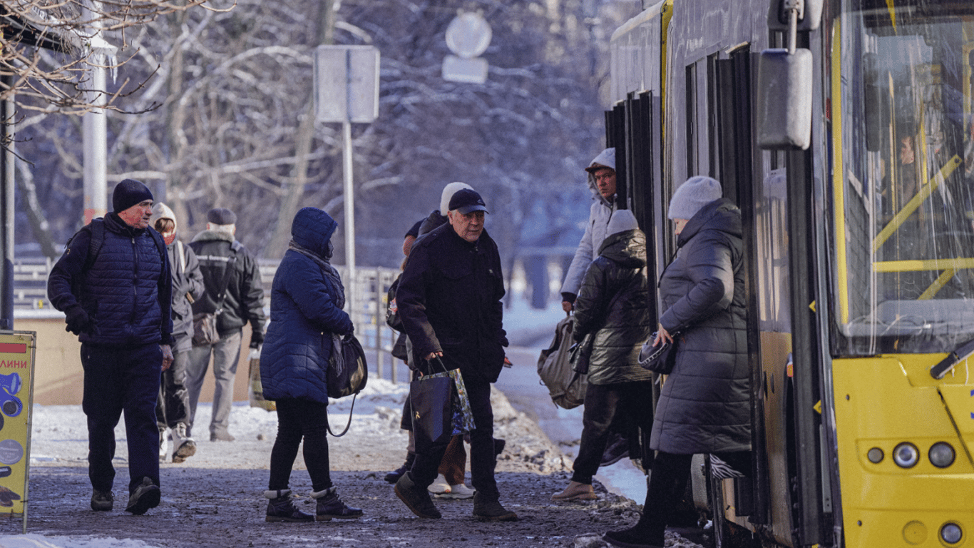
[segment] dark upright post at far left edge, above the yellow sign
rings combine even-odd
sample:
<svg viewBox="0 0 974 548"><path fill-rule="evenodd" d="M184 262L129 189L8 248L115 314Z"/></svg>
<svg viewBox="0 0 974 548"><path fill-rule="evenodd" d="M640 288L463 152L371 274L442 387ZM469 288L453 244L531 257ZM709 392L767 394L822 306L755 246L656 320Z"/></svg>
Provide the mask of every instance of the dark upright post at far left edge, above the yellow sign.
<svg viewBox="0 0 974 548"><path fill-rule="evenodd" d="M4 74L3 85L7 90L14 87L14 75ZM14 96L0 104L0 119L3 123L3 140L6 147L0 156L0 175L3 180L0 190L0 248L3 251L3 273L0 279L0 329L14 329Z"/></svg>

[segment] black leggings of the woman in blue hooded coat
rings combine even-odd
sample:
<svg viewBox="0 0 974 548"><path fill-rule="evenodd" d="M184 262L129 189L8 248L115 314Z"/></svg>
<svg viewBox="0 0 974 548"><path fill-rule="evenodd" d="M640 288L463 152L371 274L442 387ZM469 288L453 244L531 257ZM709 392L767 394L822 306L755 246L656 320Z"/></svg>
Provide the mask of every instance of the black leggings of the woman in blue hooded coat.
<svg viewBox="0 0 974 548"><path fill-rule="evenodd" d="M271 480L268 489L290 489L291 468L304 439L305 466L312 489L331 487L328 462L328 406L310 400L281 399L278 408L278 438L271 450Z"/></svg>

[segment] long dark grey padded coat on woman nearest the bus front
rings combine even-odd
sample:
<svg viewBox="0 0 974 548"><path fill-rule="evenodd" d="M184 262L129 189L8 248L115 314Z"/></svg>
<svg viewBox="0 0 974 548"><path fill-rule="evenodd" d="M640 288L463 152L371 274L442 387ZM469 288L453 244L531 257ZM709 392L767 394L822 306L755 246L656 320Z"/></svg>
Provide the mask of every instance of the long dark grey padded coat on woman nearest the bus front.
<svg viewBox="0 0 974 548"><path fill-rule="evenodd" d="M704 206L677 239L659 280L659 323L677 331L650 447L675 454L751 449L750 366L740 211Z"/></svg>

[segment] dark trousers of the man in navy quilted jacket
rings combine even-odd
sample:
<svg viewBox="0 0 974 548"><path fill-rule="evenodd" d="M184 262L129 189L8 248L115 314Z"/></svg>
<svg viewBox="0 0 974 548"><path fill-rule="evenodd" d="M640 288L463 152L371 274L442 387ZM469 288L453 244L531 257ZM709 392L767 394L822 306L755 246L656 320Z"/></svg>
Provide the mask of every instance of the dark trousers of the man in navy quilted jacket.
<svg viewBox="0 0 974 548"><path fill-rule="evenodd" d="M88 416L88 477L97 490L115 481L115 426L125 411L129 445L129 492L142 478L159 485L156 397L163 365L159 344L120 348L81 345L85 370L82 410Z"/></svg>

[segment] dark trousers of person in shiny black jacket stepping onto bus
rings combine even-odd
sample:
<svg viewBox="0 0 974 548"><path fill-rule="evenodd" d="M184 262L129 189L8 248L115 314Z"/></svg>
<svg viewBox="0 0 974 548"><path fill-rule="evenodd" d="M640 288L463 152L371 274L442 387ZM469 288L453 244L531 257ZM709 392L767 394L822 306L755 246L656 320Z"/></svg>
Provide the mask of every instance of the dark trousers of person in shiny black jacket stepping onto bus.
<svg viewBox="0 0 974 548"><path fill-rule="evenodd" d="M653 381L588 385L581 415L581 445L572 481L591 485L612 433L610 426L618 421L619 415L643 427L645 432L652 431Z"/></svg>

